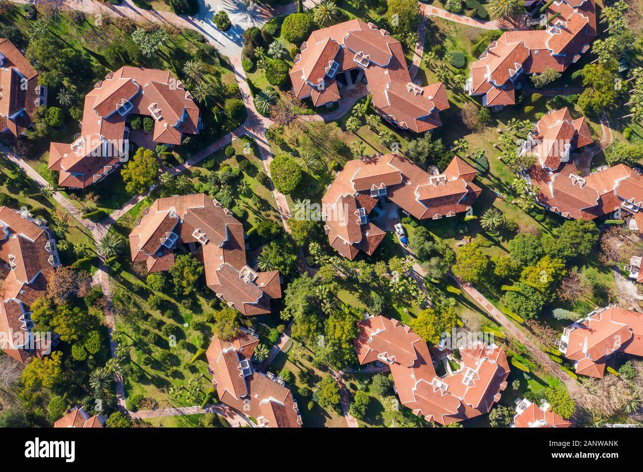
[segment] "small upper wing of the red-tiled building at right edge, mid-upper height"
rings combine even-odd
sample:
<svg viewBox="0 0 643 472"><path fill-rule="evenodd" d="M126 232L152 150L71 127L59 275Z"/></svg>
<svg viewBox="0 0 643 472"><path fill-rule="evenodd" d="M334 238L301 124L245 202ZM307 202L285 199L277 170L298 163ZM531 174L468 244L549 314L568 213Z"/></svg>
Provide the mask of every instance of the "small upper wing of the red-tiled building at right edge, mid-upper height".
<svg viewBox="0 0 643 472"><path fill-rule="evenodd" d="M552 110L539 119L527 135L521 154L533 155L547 171L569 162L572 150L592 144L592 132L584 116L572 119L568 108Z"/></svg>

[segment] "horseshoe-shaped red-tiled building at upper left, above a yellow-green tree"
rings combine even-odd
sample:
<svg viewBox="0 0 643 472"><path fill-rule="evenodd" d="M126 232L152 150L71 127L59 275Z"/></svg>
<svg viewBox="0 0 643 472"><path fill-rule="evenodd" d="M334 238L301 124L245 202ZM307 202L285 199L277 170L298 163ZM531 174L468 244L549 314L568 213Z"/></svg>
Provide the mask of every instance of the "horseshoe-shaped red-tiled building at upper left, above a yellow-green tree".
<svg viewBox="0 0 643 472"><path fill-rule="evenodd" d="M135 115L152 117L152 141L170 147L203 127L192 95L170 72L121 67L85 96L81 131L73 143L51 143L48 168L60 172L59 185L86 188L126 162L128 123Z"/></svg>

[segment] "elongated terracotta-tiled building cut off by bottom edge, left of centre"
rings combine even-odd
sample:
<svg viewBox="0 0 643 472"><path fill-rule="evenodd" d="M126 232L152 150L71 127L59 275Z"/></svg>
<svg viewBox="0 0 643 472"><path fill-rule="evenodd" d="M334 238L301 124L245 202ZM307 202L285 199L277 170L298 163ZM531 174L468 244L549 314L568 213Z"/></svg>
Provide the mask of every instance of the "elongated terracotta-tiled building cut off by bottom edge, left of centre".
<svg viewBox="0 0 643 472"><path fill-rule="evenodd" d="M217 337L206 351L212 385L222 403L267 428L299 428L302 417L293 392L284 380L257 371L252 356L259 338L252 328L241 328L235 338Z"/></svg>

